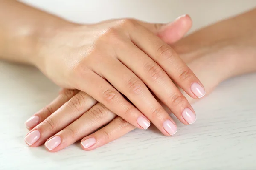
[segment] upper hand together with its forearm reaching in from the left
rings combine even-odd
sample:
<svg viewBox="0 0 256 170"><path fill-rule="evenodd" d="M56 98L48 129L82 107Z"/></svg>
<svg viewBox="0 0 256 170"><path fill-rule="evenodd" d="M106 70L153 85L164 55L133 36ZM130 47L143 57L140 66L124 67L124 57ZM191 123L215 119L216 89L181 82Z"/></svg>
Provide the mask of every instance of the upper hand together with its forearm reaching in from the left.
<svg viewBox="0 0 256 170"><path fill-rule="evenodd" d="M171 34L156 34L163 24L118 19L81 25L17 1L0 3L3 59L35 65L60 87L85 92L140 129L152 122L170 136L166 122L176 126L151 91L183 124L189 124L185 109L195 115L175 83L195 99L204 96L203 85L168 45Z"/></svg>

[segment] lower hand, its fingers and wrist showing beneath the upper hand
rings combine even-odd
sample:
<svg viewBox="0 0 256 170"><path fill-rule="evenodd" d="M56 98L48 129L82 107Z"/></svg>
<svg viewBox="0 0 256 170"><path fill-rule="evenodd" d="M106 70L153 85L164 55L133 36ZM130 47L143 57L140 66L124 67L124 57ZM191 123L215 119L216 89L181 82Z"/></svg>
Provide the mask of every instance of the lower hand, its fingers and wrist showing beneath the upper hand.
<svg viewBox="0 0 256 170"><path fill-rule="evenodd" d="M219 74L221 67L217 63L224 60L218 55L190 56L186 60L195 74L207 83L207 92L229 76ZM194 102L192 98L188 99ZM81 147L93 150L136 128L86 93L66 89L46 108L32 116L26 125L29 130L37 126L28 133L25 141L32 147L46 141L45 147L51 152L59 151L82 138Z"/></svg>

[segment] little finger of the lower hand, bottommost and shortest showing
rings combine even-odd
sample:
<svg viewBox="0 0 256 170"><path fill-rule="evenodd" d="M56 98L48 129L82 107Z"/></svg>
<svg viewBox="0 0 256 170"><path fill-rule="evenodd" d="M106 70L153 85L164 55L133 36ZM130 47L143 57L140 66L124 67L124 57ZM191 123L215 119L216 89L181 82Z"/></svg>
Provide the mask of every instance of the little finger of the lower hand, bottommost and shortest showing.
<svg viewBox="0 0 256 170"><path fill-rule="evenodd" d="M118 116L107 126L83 138L81 140L81 147L84 150L96 149L97 147L101 147L113 140L118 139L135 128L136 127Z"/></svg>

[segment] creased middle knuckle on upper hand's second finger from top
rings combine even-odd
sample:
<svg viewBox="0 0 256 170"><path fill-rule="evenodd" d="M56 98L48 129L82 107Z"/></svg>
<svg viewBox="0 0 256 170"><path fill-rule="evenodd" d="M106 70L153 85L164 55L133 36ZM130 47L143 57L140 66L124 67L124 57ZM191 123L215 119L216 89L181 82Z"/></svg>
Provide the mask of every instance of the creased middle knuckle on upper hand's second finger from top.
<svg viewBox="0 0 256 170"><path fill-rule="evenodd" d="M163 77L163 69L157 64L146 65L146 69L148 70L148 76L153 80L161 79Z"/></svg>

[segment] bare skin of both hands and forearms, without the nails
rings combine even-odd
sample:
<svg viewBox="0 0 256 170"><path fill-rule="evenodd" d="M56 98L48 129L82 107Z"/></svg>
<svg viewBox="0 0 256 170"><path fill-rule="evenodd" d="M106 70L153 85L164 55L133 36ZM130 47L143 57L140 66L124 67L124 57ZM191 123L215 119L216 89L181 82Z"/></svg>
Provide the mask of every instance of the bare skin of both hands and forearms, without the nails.
<svg viewBox="0 0 256 170"><path fill-rule="evenodd" d="M109 20L93 25L77 25L30 8L21 3L8 0L1 1L0 16L4 16L0 18L2 26L0 29L0 56L2 59L35 65L61 87L82 90L81 92L78 90L64 90L55 102L51 104L51 107L44 109L45 112L47 112L45 118L47 118L49 114L53 114L45 120L41 118L40 121L43 122L35 127L39 128L44 124L52 129L56 127L55 125L58 125L57 127L59 130L66 127L66 133L62 131L59 132L63 134L63 136L60 134L62 139L61 144L54 150L51 150L52 152L72 144L72 140L74 139L79 140L83 136L87 136L89 133L81 133L81 131L84 131L83 128L86 130L87 128L91 128L88 129L88 131L92 132L111 120L113 121L107 126L82 139L82 142L91 137L96 139L96 144L93 146L89 148L84 148L82 146L85 150L92 150L110 142L128 131L133 130L135 127L142 128L137 125L136 120L132 120L133 117L129 117L134 115L135 119L138 116L151 116L150 120L163 134L169 136L163 129L162 123L166 119L171 121L172 119L160 105L161 102L156 102L157 100L151 96L151 93L148 91L148 88L145 88L145 85L159 97L163 104L167 105L167 107L172 110L181 122L187 124L181 114L184 108L190 108L192 110L188 103L188 100L190 101L191 98L189 98L187 94L193 98L197 98L195 94L192 93L190 86L193 82L197 82L200 85L201 83L198 82L198 79L193 72L188 69L184 62L186 62L192 70L195 69L195 72L198 71L196 72L198 77L207 77L206 73L207 75L211 75L211 77L204 79L204 82L207 83L206 88L209 89L209 91L218 85L219 82L230 76L255 71L255 68L253 67L253 65L255 65L255 51L253 49L255 46L255 22L253 19L253 17L255 18L255 10L242 14L239 17L217 23L208 28L204 28L180 42L177 42L173 45L173 48L170 48L166 44L175 42L175 38L172 40L170 35L178 37L176 40L183 35L184 32L180 33L177 31L184 30L180 27L172 28L163 24L144 23L131 19ZM17 18L23 19L17 20ZM236 27L237 22L241 23L244 27ZM216 30L218 30L217 35L215 33ZM134 48L132 48L132 45L135 45L136 47L133 46ZM119 48L116 48L116 46ZM15 47L15 49L13 49L13 47ZM125 51L125 53L122 53L123 51ZM182 60L178 57L175 51L177 51ZM116 56L113 54L116 54ZM126 56L127 54L130 55ZM241 55L247 57L247 59L241 59ZM75 56L75 58L73 56ZM222 56L222 58L220 59L220 57L217 56ZM170 57L172 62L168 63ZM118 61L116 60L116 62L113 62L113 59L117 59ZM140 59L143 62L140 62ZM99 63L99 60L104 62ZM167 60L167 62L163 62L164 60ZM143 74L143 70L137 71L133 68L134 65L131 65L131 63L154 63L154 67L156 68L151 65L152 67L149 67L148 69L147 73L151 73L151 76L149 77L155 79L155 75L157 75L157 78L159 79L160 73L160 78L165 80L163 84L166 85L167 83L168 87L163 87L163 84L161 83L162 86L160 84L154 84L158 81L150 81L150 79L147 79L148 75ZM180 67L170 67L172 64ZM122 67L118 67L120 65L122 65ZM108 66L111 66L111 68ZM138 65L137 68L143 68L140 66L141 65ZM102 71L100 70L102 68L105 69ZM129 72L127 68L129 68L131 72ZM201 70L198 70L199 68ZM118 72L116 70L118 70ZM125 70L128 72L125 72ZM152 73L150 70L154 70L154 72ZM123 78L123 74L119 75L119 71L122 71L125 75L130 75L127 82L130 82L132 87L135 85L135 88L132 88L133 90L135 89L135 91L131 92L143 91L141 93L145 96L138 94L134 95L129 91L129 88L122 88L125 87L125 84L122 84L122 81L120 81L120 79L122 80ZM102 79L96 79L95 76L90 77L93 72L96 77L98 75L98 78ZM232 74L230 74L230 72ZM115 76L111 77L112 75ZM87 85L86 83L88 81L84 82L84 77L92 80L90 81L91 84ZM130 81L132 78L136 81ZM172 84L173 82L170 81L170 78L176 82L177 89L180 89L181 92L175 88L174 84ZM209 81L209 79L212 79L212 81ZM93 80L96 80L95 82L97 83L94 83ZM114 97L116 94L119 95L117 101L121 101L121 104L113 103L113 95L107 95L107 97L103 97L102 99L100 98L100 95L104 93L98 94L98 96L97 93L92 94L93 91L99 92L102 90L93 89L97 87L99 82L103 87L110 87L106 80L111 82L117 90L125 94L135 106L143 106L144 108L135 108L127 100L122 98L118 91L114 91L113 88L108 88L108 90L111 90L111 93L107 94L114 94ZM137 85L137 82L140 82L141 84ZM186 91L186 94L178 85ZM158 88L154 88L156 86ZM136 87L139 87L139 90ZM87 92L87 89L92 90L85 93ZM168 93L166 93L166 91L157 91L159 89L171 90L172 95L169 95L169 97L171 96L171 104L168 102L169 100L166 99L166 96L161 96ZM109 92L108 90L105 90L104 92ZM182 94L185 95L188 100ZM106 101L108 96L110 96L112 103ZM137 98L142 96L147 99L144 103L141 103L143 98ZM102 104L97 103L95 99ZM148 100L150 104L144 105ZM122 105L123 103L124 105ZM125 111L131 111L133 109L131 111L133 114L128 114L128 117L125 117L125 114L122 114L124 113L122 112L122 109L124 109L122 108L123 106L131 108L126 108L127 110ZM153 108L149 109L152 106ZM67 119L67 117L66 119L59 121L55 118L55 116L58 115L56 112L60 114L63 107L70 109L67 110L67 112L76 111L75 113L82 116L75 122L73 122L75 120L74 118ZM81 110L81 108L84 109L84 107L87 108L87 110ZM148 111L148 109L151 110L151 112ZM119 116L122 115L121 117L124 119L119 116L116 117L116 114L114 113L118 113ZM143 115L143 113L145 115ZM65 118L65 116L63 117ZM146 119L147 117L144 118ZM84 124L84 121L88 121L91 126L84 127L82 125ZM67 126L67 123L72 124ZM51 132L44 132L45 130L46 129L44 128L41 129L41 132L44 133L44 135L41 136L41 139L33 144L32 147L40 145L40 142L44 143L44 140L48 138L47 136L51 136ZM58 129L56 131L58 131Z"/></svg>

